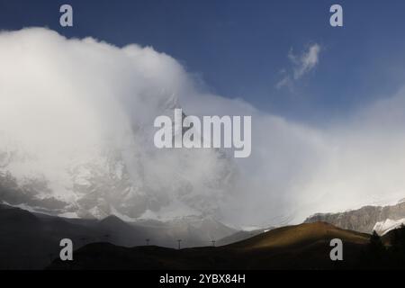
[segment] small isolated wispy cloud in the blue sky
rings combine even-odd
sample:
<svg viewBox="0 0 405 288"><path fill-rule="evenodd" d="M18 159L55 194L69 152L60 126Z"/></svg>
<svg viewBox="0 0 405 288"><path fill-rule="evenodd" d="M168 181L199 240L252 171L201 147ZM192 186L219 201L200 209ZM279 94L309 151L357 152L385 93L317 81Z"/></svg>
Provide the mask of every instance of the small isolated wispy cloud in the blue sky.
<svg viewBox="0 0 405 288"><path fill-rule="evenodd" d="M320 61L320 45L315 43L304 50L301 55L293 53L293 49L288 52L288 59L291 63L291 69L282 70L282 79L275 85L280 89L284 86L293 87L293 82L299 80L305 74L309 73Z"/></svg>

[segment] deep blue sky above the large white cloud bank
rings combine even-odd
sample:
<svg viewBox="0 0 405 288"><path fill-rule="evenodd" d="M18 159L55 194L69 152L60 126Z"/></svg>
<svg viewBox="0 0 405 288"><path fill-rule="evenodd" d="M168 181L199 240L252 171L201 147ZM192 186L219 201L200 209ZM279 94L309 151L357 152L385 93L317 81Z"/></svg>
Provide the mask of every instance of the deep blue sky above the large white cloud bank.
<svg viewBox="0 0 405 288"><path fill-rule="evenodd" d="M59 26L71 4L74 27ZM344 27L329 25L341 4ZM152 46L179 60L216 94L266 112L324 123L346 117L405 82L405 2L387 1L10 1L0 28L47 26L68 37ZM299 56L320 45L319 62L293 87L277 88Z"/></svg>

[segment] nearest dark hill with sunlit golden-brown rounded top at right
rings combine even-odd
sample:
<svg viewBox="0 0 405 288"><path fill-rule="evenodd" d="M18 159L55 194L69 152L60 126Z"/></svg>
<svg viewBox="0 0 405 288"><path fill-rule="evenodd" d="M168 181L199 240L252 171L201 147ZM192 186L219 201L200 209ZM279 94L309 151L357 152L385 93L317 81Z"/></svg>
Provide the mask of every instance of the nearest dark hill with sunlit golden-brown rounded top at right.
<svg viewBox="0 0 405 288"><path fill-rule="evenodd" d="M329 242L344 243L344 261L329 258ZM325 222L273 229L223 247L180 250L117 247L94 243L76 250L73 261L55 260L49 269L333 269L354 268L370 236Z"/></svg>

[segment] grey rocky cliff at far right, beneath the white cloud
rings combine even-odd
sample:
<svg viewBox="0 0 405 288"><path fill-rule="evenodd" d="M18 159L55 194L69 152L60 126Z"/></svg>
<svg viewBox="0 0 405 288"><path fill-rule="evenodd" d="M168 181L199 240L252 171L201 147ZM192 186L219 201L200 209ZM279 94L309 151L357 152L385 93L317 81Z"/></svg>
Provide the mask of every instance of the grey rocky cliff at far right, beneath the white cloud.
<svg viewBox="0 0 405 288"><path fill-rule="evenodd" d="M403 218L405 218L405 202L401 201L391 206L365 206L357 210L339 213L318 213L310 216L304 222L326 221L343 229L370 233L377 222Z"/></svg>

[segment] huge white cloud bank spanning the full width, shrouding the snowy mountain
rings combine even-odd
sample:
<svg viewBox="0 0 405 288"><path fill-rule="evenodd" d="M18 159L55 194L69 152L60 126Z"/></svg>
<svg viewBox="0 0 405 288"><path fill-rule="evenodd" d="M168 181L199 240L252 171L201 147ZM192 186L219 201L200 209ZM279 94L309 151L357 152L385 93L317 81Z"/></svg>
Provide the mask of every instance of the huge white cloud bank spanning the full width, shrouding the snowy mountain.
<svg viewBox="0 0 405 288"><path fill-rule="evenodd" d="M138 45L24 29L0 34L0 63L0 171L39 187L7 195L15 204L244 226L405 196L405 91L321 130L208 94L174 58ZM153 120L178 104L251 115L251 156L154 148Z"/></svg>

